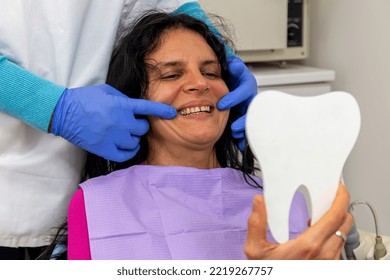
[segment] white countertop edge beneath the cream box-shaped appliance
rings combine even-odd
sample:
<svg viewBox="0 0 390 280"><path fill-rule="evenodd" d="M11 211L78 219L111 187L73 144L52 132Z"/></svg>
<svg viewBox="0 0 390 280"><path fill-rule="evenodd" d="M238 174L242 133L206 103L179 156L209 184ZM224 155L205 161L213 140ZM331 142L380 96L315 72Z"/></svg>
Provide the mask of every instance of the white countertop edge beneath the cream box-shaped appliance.
<svg viewBox="0 0 390 280"><path fill-rule="evenodd" d="M336 76L334 70L300 64L248 64L248 68L262 86L331 82Z"/></svg>

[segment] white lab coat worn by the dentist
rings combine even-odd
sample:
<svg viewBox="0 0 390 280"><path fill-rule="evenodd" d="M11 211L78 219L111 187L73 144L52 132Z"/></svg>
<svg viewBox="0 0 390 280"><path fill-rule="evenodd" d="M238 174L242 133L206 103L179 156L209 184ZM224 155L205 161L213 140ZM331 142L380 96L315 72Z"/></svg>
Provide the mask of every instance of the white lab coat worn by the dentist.
<svg viewBox="0 0 390 280"><path fill-rule="evenodd" d="M1 0L0 54L58 85L104 83L121 17L186 2ZM76 146L0 113L0 246L49 244L84 163Z"/></svg>

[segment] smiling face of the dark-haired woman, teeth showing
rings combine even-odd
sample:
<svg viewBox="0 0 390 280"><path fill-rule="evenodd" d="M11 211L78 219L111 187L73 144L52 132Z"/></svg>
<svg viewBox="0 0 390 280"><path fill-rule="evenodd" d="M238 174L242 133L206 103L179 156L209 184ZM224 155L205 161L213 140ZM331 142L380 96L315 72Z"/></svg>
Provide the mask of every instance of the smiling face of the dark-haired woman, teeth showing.
<svg viewBox="0 0 390 280"><path fill-rule="evenodd" d="M154 67L148 70L146 98L175 107L177 117L150 117L149 142L213 147L229 116L228 110L217 109L218 100L229 92L217 56L201 35L187 29L169 30L160 43L147 57Z"/></svg>

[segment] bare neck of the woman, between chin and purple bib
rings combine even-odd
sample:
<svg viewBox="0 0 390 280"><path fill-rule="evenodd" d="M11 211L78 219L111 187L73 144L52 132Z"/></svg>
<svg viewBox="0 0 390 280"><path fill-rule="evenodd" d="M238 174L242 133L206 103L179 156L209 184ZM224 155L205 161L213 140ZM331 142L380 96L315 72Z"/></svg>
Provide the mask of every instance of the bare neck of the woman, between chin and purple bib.
<svg viewBox="0 0 390 280"><path fill-rule="evenodd" d="M169 147L149 143L149 152L145 164L163 166L186 166L199 169L221 167L214 147L189 149L186 147Z"/></svg>

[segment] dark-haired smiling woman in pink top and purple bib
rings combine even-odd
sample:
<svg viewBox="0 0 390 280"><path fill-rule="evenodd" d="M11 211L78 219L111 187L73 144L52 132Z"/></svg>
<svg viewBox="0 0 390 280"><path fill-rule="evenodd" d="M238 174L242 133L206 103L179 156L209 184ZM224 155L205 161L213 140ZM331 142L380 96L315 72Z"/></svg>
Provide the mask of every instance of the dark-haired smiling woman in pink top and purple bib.
<svg viewBox="0 0 390 280"><path fill-rule="evenodd" d="M117 171L87 180L74 195L68 217L70 259L324 257L317 247L301 250L265 241L253 155L249 149L241 154L231 136L237 109L216 107L229 92L225 43L204 23L165 13L144 15L123 37L108 82L131 98L169 104L178 115L172 120L149 117L140 151L125 164L89 158L90 177ZM345 193L338 199L348 206ZM344 224L348 207L335 208L337 225L316 238L333 244L333 258L342 242L327 233ZM292 213L290 237L295 238L309 219L302 196L294 198ZM334 215L320 225L334 223ZM265 254L262 248L271 250Z"/></svg>

